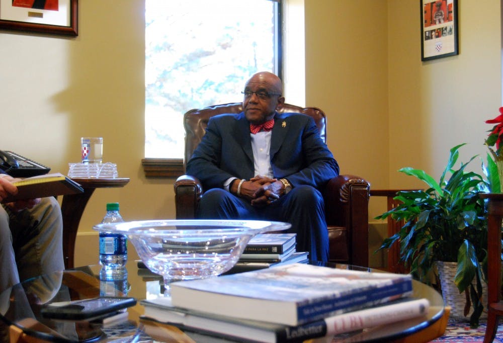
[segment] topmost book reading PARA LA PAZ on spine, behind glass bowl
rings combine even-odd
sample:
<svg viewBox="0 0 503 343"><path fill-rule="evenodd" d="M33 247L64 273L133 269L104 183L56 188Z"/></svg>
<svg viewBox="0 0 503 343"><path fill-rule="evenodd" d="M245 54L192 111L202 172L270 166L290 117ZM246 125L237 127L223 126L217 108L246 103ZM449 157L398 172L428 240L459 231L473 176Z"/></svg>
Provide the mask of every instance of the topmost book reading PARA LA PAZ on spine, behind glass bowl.
<svg viewBox="0 0 503 343"><path fill-rule="evenodd" d="M295 245L296 233L260 233L251 238L243 253L282 254Z"/></svg>

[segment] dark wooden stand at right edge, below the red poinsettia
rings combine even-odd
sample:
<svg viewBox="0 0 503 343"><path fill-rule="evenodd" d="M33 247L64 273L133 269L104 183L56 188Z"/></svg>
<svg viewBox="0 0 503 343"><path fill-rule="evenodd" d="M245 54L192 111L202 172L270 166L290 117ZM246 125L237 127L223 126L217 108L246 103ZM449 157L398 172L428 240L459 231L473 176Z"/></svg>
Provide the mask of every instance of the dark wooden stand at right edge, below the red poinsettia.
<svg viewBox="0 0 503 343"><path fill-rule="evenodd" d="M484 343L492 342L503 316L501 301L501 220L503 219L503 194L481 193L487 204L487 327Z"/></svg>

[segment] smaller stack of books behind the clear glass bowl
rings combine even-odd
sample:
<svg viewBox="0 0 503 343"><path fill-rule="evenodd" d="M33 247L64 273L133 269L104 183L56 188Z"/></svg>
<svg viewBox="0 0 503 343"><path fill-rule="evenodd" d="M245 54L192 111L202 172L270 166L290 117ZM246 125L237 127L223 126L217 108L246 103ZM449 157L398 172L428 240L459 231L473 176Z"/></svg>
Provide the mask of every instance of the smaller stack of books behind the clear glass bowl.
<svg viewBox="0 0 503 343"><path fill-rule="evenodd" d="M293 263L307 263L309 253L296 251L295 233L261 233L246 244L239 261L226 274L242 273Z"/></svg>

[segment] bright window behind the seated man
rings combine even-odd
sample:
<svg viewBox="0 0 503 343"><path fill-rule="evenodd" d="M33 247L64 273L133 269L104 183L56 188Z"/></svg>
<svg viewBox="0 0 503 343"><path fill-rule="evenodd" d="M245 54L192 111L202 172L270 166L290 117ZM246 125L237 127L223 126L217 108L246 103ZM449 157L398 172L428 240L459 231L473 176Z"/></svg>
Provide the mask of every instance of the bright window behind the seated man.
<svg viewBox="0 0 503 343"><path fill-rule="evenodd" d="M188 110L239 102L257 71L281 73L271 0L145 0L145 157L183 158Z"/></svg>

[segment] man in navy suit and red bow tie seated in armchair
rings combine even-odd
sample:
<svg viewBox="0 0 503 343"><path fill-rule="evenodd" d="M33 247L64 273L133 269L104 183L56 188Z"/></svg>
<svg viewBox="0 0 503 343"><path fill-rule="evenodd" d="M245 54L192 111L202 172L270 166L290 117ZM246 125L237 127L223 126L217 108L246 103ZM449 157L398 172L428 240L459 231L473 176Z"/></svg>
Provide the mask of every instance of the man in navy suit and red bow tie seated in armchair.
<svg viewBox="0 0 503 343"><path fill-rule="evenodd" d="M292 224L297 251L328 260L328 233L320 189L339 165L312 118L279 114L278 76L259 72L244 87L243 112L211 118L187 163L206 191L198 218L258 219Z"/></svg>

